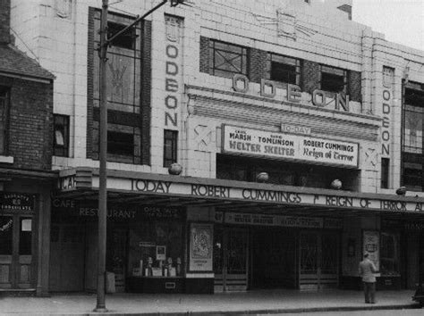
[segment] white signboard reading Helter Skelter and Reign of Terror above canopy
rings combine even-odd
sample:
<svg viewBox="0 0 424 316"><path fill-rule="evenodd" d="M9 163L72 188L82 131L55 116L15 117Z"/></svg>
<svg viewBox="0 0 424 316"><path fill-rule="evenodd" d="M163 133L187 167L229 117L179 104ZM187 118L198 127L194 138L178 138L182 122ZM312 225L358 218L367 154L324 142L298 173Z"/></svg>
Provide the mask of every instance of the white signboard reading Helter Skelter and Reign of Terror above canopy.
<svg viewBox="0 0 424 316"><path fill-rule="evenodd" d="M224 125L223 152L358 167L359 145Z"/></svg>

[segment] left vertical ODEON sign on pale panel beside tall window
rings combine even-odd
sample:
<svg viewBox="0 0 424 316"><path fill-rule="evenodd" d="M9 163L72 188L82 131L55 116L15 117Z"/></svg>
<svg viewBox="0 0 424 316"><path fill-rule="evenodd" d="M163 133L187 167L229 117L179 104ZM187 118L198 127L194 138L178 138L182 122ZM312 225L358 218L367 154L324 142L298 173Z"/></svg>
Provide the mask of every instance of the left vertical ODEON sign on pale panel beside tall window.
<svg viewBox="0 0 424 316"><path fill-rule="evenodd" d="M182 97L183 20L165 15L165 128L178 129Z"/></svg>

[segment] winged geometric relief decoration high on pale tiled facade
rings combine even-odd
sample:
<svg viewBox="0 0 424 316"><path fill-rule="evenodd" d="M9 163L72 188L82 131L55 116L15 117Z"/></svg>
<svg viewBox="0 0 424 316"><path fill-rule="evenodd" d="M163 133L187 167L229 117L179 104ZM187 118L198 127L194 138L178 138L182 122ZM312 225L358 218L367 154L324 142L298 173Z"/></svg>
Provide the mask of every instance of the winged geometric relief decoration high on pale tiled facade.
<svg viewBox="0 0 424 316"><path fill-rule="evenodd" d="M279 37L290 37L296 40L298 33L311 37L318 32L314 29L310 29L305 25L301 25L300 21L296 20L296 14L294 12L284 12L283 9L276 11L276 18L270 18L264 15L251 13L261 25L276 25L277 36Z"/></svg>

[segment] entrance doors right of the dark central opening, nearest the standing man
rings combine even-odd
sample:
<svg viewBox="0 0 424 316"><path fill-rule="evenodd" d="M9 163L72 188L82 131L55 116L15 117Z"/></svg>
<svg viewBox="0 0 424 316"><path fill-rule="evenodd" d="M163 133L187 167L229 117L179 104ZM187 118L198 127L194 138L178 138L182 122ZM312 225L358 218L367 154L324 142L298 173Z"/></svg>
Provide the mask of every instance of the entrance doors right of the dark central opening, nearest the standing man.
<svg viewBox="0 0 424 316"><path fill-rule="evenodd" d="M338 286L339 237L335 232L301 232L300 278L302 290Z"/></svg>

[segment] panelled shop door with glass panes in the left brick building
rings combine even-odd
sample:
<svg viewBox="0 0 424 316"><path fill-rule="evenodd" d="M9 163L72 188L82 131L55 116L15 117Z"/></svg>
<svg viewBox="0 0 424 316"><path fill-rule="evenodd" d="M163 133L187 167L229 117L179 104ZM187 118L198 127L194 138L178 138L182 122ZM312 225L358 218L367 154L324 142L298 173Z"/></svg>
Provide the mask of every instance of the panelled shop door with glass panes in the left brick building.
<svg viewBox="0 0 424 316"><path fill-rule="evenodd" d="M32 283L32 218L0 216L0 288L30 288Z"/></svg>

